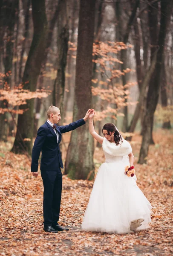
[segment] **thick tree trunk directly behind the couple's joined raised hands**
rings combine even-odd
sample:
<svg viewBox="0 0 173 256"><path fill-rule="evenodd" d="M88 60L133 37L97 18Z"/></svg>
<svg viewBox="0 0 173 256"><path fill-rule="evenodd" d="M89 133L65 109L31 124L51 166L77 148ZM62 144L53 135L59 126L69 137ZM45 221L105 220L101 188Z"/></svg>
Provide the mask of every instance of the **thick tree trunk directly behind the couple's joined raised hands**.
<svg viewBox="0 0 173 256"><path fill-rule="evenodd" d="M85 116L92 104L92 45L94 41L95 0L80 0L73 120ZM87 67L87 68L86 68ZM94 178L94 140L88 125L72 132L65 169L71 179Z"/></svg>

